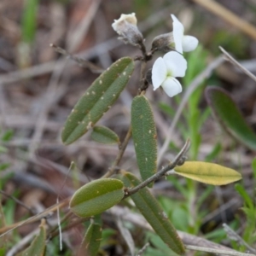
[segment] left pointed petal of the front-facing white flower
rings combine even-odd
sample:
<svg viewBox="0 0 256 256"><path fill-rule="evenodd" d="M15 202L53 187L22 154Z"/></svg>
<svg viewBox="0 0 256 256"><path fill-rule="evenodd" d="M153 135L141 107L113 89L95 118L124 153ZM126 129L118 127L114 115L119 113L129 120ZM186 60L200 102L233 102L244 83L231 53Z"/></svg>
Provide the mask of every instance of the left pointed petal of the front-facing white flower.
<svg viewBox="0 0 256 256"><path fill-rule="evenodd" d="M160 87L160 85L165 81L167 76L167 67L163 58L159 57L154 61L152 67L152 83L154 90Z"/></svg>

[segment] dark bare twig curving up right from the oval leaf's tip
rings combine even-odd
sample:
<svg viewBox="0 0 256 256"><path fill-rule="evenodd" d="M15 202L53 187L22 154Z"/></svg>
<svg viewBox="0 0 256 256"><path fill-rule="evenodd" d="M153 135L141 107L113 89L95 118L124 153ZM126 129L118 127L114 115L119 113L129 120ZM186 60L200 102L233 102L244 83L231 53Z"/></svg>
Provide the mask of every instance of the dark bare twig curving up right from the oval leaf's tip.
<svg viewBox="0 0 256 256"><path fill-rule="evenodd" d="M146 179L145 181L143 181L142 183L140 183L139 185L137 185L137 187L132 188L132 189L128 189L126 191L127 196L133 195L135 193L137 193L137 191L139 189L143 189L144 187L146 187L149 183L154 182L155 180L159 179L160 177L163 177L166 172L172 170L175 166L177 166L177 164L179 163L179 161L183 158L183 155L186 154L186 152L189 149L189 145L190 145L190 141L189 139L186 141L186 143L184 144L183 148L180 150L180 152L177 154L177 156L175 157L175 159L166 167L162 168L160 170L160 172L156 172L153 176L148 177L148 179Z"/></svg>

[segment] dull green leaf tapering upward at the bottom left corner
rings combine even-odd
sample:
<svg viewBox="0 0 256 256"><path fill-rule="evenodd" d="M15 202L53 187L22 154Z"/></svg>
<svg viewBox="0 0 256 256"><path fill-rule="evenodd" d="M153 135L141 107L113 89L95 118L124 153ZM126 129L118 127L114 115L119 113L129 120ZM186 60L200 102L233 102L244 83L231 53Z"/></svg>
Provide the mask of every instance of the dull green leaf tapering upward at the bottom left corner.
<svg viewBox="0 0 256 256"><path fill-rule="evenodd" d="M46 246L46 230L45 220L40 224L40 232L38 236L34 238L31 245L26 248L23 252L19 253L20 256L44 256Z"/></svg>

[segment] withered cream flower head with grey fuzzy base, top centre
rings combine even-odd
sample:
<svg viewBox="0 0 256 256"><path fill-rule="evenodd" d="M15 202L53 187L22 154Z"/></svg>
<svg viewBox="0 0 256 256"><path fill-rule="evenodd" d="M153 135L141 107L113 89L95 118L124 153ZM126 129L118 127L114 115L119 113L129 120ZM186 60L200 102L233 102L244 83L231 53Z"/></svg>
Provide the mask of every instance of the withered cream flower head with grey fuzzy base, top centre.
<svg viewBox="0 0 256 256"><path fill-rule="evenodd" d="M121 15L119 20L114 20L113 30L117 32L125 44L137 46L143 44L143 34L137 28L137 18L135 13L131 15Z"/></svg>

